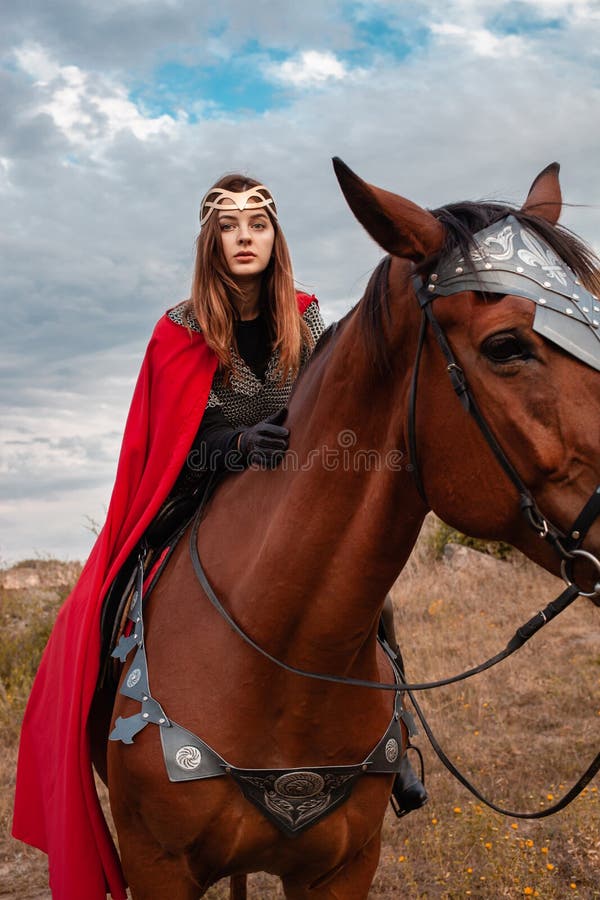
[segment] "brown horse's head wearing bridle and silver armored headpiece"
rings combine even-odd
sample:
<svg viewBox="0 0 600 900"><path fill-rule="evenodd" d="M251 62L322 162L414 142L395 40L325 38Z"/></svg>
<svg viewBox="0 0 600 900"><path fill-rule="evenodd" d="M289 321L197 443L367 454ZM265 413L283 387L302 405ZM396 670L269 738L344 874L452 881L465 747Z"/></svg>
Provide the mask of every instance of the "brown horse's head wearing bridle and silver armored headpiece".
<svg viewBox="0 0 600 900"><path fill-rule="evenodd" d="M598 555L595 510L582 544L569 535L600 484L600 281L593 254L556 225L558 165L536 178L521 209L462 203L432 212L334 165L352 211L392 255L390 304L421 306L427 322L412 440L411 415L404 421L429 505L554 571L560 556L531 520L538 531L547 522L569 549ZM477 409L483 424L469 415ZM589 578L598 576L592 566Z"/></svg>

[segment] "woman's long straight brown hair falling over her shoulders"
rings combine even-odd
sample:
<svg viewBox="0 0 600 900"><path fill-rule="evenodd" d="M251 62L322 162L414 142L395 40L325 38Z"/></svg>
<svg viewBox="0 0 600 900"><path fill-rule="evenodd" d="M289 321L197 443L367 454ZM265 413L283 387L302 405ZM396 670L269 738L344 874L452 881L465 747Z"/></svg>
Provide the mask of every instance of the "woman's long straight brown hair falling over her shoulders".
<svg viewBox="0 0 600 900"><path fill-rule="evenodd" d="M213 187L228 191L247 191L259 181L244 175L226 175ZM262 276L262 312L266 316L273 351L279 351L279 377L298 373L303 343L312 345L308 326L298 312L292 264L283 232L275 219L273 253ZM189 300L208 346L219 360L219 368L229 380L234 369L231 348L235 343L234 322L237 311L231 302L241 291L227 267L219 217L216 211L202 226L196 241L196 265Z"/></svg>

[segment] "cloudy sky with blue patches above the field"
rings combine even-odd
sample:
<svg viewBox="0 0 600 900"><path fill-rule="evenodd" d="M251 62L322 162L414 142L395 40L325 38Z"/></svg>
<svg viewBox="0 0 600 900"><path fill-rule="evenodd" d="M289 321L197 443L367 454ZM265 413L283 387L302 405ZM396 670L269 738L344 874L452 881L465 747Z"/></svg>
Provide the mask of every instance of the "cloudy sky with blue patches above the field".
<svg viewBox="0 0 600 900"><path fill-rule="evenodd" d="M380 256L334 155L429 206L521 202L558 160L600 249L599 62L600 0L3 3L0 564L89 551L214 180L270 185L328 321Z"/></svg>

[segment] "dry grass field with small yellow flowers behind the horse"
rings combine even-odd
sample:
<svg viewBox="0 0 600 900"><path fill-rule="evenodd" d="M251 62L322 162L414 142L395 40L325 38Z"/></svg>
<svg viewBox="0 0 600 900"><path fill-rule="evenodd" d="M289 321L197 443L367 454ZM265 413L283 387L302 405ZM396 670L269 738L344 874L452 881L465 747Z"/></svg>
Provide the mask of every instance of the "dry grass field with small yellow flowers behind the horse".
<svg viewBox="0 0 600 900"><path fill-rule="evenodd" d="M393 592L406 667L415 681L454 674L496 653L561 589L518 554L503 561L450 545L447 557L437 559L436 529L428 523ZM19 586L14 571L12 581L4 572L0 592L0 900L50 898L45 857L9 835L18 722L35 659L66 593L60 566L37 565L41 584L30 579ZM66 580L74 575L68 570ZM496 802L517 810L545 808L595 756L599 616L579 598L497 668L422 696L448 755ZM371 897L600 898L598 779L557 815L519 821L474 800L437 761L423 734L417 743L430 802L400 821L388 814ZM250 877L250 898L282 896L276 879ZM225 882L207 894L209 900L226 897Z"/></svg>

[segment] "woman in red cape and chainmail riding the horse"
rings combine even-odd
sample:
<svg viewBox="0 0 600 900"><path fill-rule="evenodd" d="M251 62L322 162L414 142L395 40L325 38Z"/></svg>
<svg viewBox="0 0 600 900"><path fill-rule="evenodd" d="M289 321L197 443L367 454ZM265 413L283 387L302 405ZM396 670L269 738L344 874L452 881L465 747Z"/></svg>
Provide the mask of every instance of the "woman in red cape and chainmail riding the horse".
<svg viewBox="0 0 600 900"><path fill-rule="evenodd" d="M84 870L98 896L105 877L116 896L121 883L85 732L101 598L110 586L109 600L121 599L140 548L152 548L157 524L208 473L277 466L288 446L285 406L324 329L316 298L294 289L264 185L222 178L205 195L200 219L191 298L166 313L150 341L107 522L61 610L23 723L14 834L48 852L59 900L81 896ZM388 637L396 645L390 611ZM98 730L94 721L90 727ZM102 759L98 768L105 776ZM405 810L425 802L407 760L395 796Z"/></svg>

